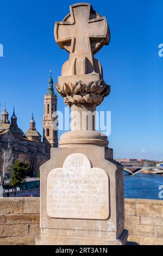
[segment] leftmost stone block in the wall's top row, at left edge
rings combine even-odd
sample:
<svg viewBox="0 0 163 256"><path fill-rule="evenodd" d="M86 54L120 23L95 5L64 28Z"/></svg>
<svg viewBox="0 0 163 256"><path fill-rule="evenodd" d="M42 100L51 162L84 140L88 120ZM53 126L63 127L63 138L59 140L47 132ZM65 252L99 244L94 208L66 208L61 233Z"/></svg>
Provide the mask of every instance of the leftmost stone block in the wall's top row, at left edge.
<svg viewBox="0 0 163 256"><path fill-rule="evenodd" d="M22 214L22 199L3 198L1 200L0 214Z"/></svg>

